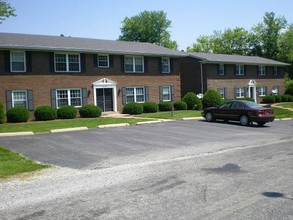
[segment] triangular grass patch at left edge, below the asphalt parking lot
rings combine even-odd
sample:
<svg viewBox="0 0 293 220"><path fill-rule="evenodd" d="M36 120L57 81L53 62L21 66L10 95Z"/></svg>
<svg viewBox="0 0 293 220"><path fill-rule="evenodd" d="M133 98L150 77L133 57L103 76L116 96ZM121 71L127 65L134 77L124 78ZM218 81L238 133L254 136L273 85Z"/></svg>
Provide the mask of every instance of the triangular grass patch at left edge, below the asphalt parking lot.
<svg viewBox="0 0 293 220"><path fill-rule="evenodd" d="M50 167L26 159L20 154L0 147L0 178Z"/></svg>

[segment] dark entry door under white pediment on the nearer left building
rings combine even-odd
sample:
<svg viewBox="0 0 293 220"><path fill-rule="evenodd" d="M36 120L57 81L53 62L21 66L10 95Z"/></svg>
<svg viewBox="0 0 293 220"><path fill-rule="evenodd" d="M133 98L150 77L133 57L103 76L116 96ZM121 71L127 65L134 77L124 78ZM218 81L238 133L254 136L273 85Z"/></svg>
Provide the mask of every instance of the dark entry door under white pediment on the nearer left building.
<svg viewBox="0 0 293 220"><path fill-rule="evenodd" d="M113 111L113 89L96 89L96 96L97 106L99 106L103 112Z"/></svg>

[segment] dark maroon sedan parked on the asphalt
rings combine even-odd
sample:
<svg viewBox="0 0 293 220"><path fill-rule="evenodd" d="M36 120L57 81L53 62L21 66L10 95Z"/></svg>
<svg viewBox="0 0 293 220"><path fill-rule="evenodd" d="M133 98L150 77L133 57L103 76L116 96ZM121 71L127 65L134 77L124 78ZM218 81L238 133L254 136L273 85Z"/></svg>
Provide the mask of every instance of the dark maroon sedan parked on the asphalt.
<svg viewBox="0 0 293 220"><path fill-rule="evenodd" d="M251 101L228 101L217 107L209 107L202 111L202 116L209 122L217 119L224 121L240 121L241 125L250 125L256 122L263 126L267 122L272 122L275 115L272 109L265 108Z"/></svg>

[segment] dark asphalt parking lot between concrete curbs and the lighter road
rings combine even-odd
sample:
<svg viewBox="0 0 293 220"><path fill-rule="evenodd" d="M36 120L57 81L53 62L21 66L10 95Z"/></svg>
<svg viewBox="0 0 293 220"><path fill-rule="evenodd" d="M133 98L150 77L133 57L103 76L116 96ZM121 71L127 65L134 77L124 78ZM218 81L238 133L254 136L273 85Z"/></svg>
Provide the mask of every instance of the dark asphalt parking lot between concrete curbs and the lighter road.
<svg viewBox="0 0 293 220"><path fill-rule="evenodd" d="M164 160L292 138L293 120L265 127L203 120L163 122L120 128L1 137L0 145L43 163L99 169L127 163Z"/></svg>

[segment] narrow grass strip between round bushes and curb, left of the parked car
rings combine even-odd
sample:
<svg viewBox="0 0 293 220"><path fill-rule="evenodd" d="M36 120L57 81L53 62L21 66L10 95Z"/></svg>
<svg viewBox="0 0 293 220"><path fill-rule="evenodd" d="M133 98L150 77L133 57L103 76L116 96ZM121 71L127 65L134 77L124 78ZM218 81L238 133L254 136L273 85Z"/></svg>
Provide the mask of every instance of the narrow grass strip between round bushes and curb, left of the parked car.
<svg viewBox="0 0 293 220"><path fill-rule="evenodd" d="M181 119L187 117L201 117L201 111L181 110L172 112L157 112L157 113L144 113L138 117L145 118L162 118L162 119Z"/></svg>

